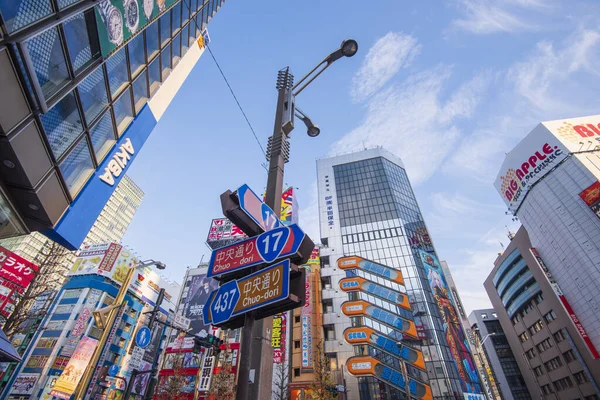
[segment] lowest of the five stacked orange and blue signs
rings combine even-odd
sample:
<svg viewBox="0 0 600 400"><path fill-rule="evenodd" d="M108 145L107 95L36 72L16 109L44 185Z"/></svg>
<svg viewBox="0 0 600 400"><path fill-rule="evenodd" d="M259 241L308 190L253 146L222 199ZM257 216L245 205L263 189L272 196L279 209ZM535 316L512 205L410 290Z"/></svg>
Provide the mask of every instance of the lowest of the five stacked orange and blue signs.
<svg viewBox="0 0 600 400"><path fill-rule="evenodd" d="M350 357L346 361L348 372L355 376L374 376L380 381L390 384L403 392L410 391L412 398L431 400L433 395L429 385L409 380L408 384L401 372L388 367L373 357Z"/></svg>

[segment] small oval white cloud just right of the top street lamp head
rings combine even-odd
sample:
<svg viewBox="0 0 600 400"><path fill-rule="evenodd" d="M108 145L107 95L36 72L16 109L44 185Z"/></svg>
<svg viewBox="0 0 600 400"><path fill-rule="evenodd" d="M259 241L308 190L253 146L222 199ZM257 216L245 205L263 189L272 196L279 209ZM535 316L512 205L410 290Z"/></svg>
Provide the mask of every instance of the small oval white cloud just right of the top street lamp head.
<svg viewBox="0 0 600 400"><path fill-rule="evenodd" d="M389 32L377 40L352 79L353 100L364 100L381 89L401 68L410 65L420 51L417 40L403 33Z"/></svg>

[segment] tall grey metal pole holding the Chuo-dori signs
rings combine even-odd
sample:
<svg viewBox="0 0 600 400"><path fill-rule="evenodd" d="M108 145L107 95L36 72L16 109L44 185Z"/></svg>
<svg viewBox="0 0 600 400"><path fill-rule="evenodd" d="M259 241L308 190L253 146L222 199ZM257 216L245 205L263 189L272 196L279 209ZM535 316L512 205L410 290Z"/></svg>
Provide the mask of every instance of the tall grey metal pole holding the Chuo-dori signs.
<svg viewBox="0 0 600 400"><path fill-rule="evenodd" d="M283 76L282 76L283 74ZM291 76L289 68L279 71L277 109L275 112L275 126L271 141L271 152L269 160L269 177L267 180L266 204L275 211L276 215L281 212L281 194L283 191L283 170L285 164L282 152L283 141L287 140L282 128L285 101L288 90L291 88ZM281 80L283 78L283 80ZM253 269L254 271L254 269ZM238 371L238 387L236 400L266 399L271 397L271 385L273 380L273 349L270 343L265 344L263 340L253 343L253 338L261 338L265 327L269 326L272 318L265 318L255 323L255 312L251 311L244 317L242 328L242 341L240 349L240 367ZM253 351L256 347L256 351ZM270 366L270 367L269 367ZM254 369L254 384L250 394L250 369ZM262 390L261 390L262 388ZM265 392L265 390L267 390ZM261 396L262 394L262 396Z"/></svg>

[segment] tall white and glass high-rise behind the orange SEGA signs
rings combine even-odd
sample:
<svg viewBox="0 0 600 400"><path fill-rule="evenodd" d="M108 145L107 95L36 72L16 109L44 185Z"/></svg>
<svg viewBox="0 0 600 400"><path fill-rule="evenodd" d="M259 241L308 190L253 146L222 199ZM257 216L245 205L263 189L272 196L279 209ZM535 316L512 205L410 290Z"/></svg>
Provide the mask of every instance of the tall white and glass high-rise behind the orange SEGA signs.
<svg viewBox="0 0 600 400"><path fill-rule="evenodd" d="M405 288L396 288L391 277L373 275L369 280L406 291L418 332L413 345L423 354L425 378L433 397L483 398L468 340L402 161L384 149L369 149L318 160L317 175L324 245L321 279L331 282L333 289L322 292L323 325L333 329L329 338L335 338L328 340L326 336L325 352L337 354L338 368L355 354L355 348L343 340L344 330L352 322L341 312L348 295L339 290L339 281L346 273L337 261L357 255L401 271ZM372 329L378 337L395 343L392 340L398 336L385 336L395 328L383 325ZM402 371L391 374L399 377ZM352 393L349 398L388 399L398 395L375 377L355 378L346 373L345 378L348 393Z"/></svg>

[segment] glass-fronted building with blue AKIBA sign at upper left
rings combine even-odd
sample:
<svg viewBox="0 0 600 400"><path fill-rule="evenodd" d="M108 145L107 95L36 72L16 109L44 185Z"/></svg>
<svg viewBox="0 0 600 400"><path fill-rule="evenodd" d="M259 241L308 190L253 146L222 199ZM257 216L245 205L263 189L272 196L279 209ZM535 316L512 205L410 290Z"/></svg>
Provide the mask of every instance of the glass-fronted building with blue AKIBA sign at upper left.
<svg viewBox="0 0 600 400"><path fill-rule="evenodd" d="M0 237L81 246L223 2L0 3Z"/></svg>

